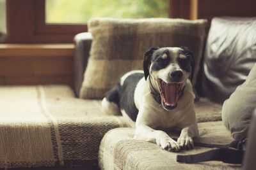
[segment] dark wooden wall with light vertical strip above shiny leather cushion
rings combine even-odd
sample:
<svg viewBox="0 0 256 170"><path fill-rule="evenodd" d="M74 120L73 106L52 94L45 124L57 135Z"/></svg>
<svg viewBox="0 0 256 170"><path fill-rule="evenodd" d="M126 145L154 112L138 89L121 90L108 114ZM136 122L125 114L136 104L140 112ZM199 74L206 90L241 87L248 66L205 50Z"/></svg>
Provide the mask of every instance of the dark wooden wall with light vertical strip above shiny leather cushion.
<svg viewBox="0 0 256 170"><path fill-rule="evenodd" d="M256 17L255 0L170 0L170 17L195 20L213 17Z"/></svg>

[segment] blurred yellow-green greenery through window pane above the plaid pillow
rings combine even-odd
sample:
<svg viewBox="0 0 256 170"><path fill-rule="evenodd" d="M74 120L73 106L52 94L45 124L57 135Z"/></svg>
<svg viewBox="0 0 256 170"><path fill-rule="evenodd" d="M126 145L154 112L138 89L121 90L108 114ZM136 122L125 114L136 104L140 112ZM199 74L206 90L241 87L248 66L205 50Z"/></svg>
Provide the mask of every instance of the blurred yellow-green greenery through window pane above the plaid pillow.
<svg viewBox="0 0 256 170"><path fill-rule="evenodd" d="M86 24L93 17L168 18L169 15L169 0L45 0L45 3L47 24Z"/></svg>

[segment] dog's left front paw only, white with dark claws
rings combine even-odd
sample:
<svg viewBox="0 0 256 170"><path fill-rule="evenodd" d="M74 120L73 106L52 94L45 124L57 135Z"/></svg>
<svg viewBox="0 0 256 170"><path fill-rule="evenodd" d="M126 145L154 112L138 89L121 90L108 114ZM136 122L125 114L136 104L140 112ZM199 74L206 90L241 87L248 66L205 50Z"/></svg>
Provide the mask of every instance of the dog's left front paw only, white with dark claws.
<svg viewBox="0 0 256 170"><path fill-rule="evenodd" d="M157 145L161 146L163 150L168 150L172 152L179 152L180 146L179 144L170 138L168 135L159 136L159 138L156 140Z"/></svg>

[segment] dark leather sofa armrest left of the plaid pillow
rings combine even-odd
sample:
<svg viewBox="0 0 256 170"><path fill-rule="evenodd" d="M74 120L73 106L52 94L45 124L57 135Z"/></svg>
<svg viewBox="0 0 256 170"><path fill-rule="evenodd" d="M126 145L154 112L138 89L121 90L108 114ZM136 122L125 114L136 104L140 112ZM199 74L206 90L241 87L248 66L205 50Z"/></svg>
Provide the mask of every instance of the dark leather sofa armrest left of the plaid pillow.
<svg viewBox="0 0 256 170"><path fill-rule="evenodd" d="M82 32L75 36L76 45L74 56L74 90L76 96L79 96L79 90L84 80L84 70L92 45L92 34L90 32Z"/></svg>

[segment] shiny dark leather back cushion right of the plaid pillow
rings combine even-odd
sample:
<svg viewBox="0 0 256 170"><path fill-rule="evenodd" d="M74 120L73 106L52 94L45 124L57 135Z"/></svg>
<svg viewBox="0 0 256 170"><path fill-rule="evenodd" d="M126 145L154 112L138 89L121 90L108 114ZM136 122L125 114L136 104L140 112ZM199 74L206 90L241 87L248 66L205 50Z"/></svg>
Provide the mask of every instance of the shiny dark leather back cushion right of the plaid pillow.
<svg viewBox="0 0 256 170"><path fill-rule="evenodd" d="M213 18L204 55L203 93L223 103L256 62L256 17Z"/></svg>

